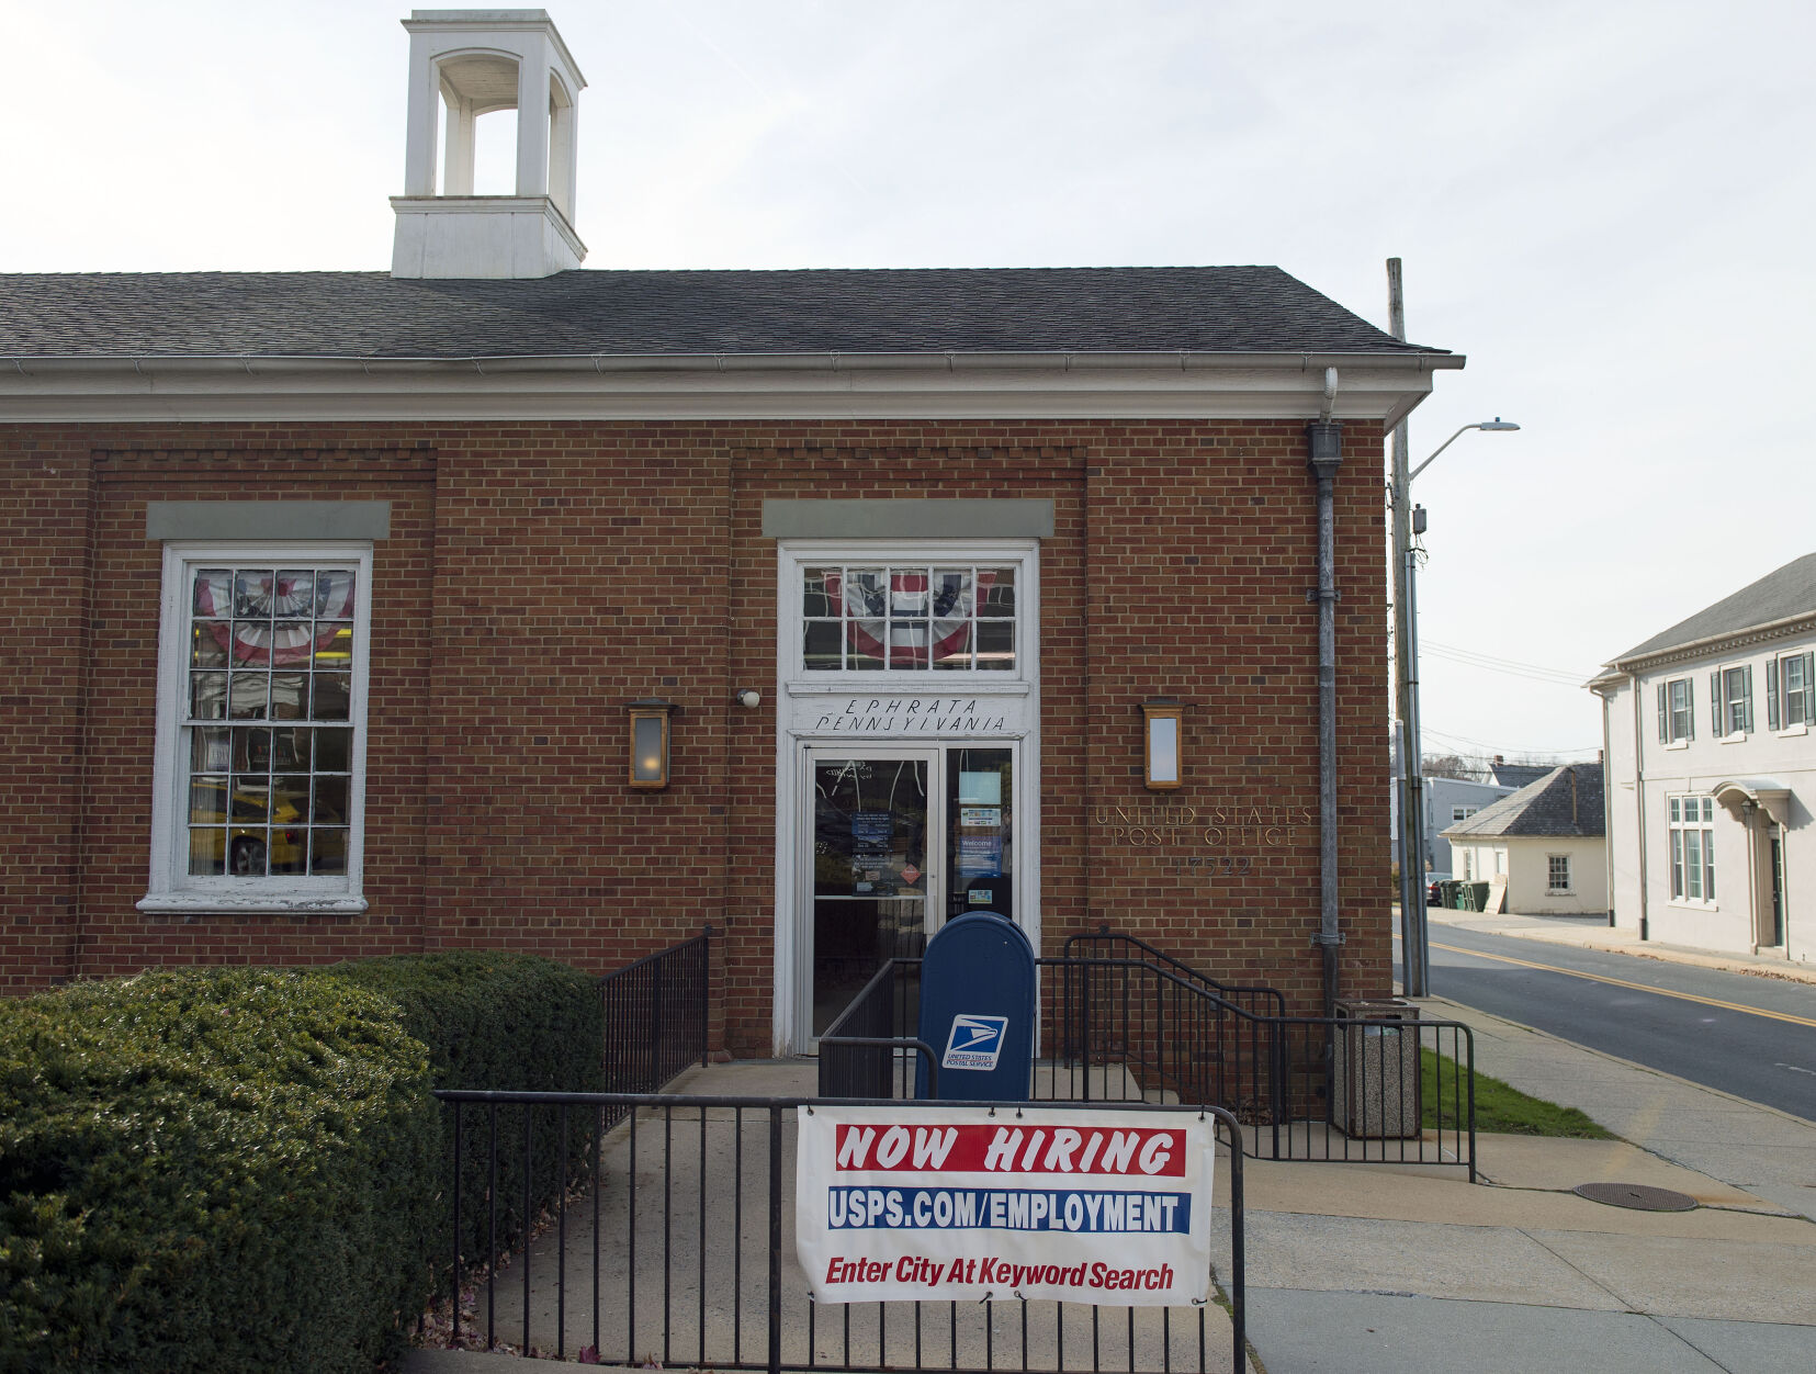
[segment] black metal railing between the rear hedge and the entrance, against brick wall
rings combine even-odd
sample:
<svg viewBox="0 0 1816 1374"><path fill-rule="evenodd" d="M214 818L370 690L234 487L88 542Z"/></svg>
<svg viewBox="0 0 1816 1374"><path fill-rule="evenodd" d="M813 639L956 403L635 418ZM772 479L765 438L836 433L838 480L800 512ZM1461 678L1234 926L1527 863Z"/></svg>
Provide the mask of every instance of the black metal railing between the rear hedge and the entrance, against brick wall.
<svg viewBox="0 0 1816 1374"><path fill-rule="evenodd" d="M657 1092L690 1063L706 1063L710 956L708 925L599 980L607 1092Z"/></svg>

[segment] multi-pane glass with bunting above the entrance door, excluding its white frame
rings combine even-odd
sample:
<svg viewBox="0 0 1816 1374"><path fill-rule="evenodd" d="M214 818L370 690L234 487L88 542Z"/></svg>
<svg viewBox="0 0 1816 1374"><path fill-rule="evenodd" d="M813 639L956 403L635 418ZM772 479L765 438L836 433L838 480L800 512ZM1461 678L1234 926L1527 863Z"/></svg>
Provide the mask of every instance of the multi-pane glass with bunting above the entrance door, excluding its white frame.
<svg viewBox="0 0 1816 1374"><path fill-rule="evenodd" d="M1013 565L810 565L801 658L812 672L1015 672Z"/></svg>

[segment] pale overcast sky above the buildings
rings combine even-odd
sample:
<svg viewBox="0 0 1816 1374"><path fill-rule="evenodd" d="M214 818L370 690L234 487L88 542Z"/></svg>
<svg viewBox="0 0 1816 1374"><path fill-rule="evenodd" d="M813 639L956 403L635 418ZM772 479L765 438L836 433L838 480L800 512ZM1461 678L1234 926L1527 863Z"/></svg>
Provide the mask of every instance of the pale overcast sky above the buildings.
<svg viewBox="0 0 1816 1374"><path fill-rule="evenodd" d="M387 267L405 13L0 0L0 271ZM550 15L588 267L1278 264L1386 325L1400 256L1469 358L1413 462L1524 425L1415 485L1427 754L1593 758L1596 665L1816 549L1807 0Z"/></svg>

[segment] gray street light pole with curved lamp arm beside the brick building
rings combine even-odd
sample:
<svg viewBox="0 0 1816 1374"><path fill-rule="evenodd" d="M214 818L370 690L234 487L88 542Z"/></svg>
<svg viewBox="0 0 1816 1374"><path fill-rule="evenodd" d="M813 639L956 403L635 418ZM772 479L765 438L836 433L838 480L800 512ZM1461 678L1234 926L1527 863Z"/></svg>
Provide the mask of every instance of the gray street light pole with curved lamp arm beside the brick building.
<svg viewBox="0 0 1816 1374"><path fill-rule="evenodd" d="M1393 264L1398 265L1397 262ZM1393 269L1389 269L1391 273ZM1404 429L1404 425L1400 427ZM1413 478L1431 467L1433 460L1471 429L1489 434L1504 434L1518 429L1511 420L1498 414L1493 420L1478 420L1462 425L1444 443L1433 449L1411 473L1406 471L1406 445L1398 442L1393 449L1393 540L1395 540L1395 658L1398 669L1397 705L1400 711L1400 729L1404 738L1400 816L1404 821L1400 849L1400 967L1402 987L1409 998L1431 994L1431 949L1426 940L1426 780L1424 780L1424 743L1418 718L1418 563L1413 551L1413 516L1407 509ZM1402 476L1404 473L1404 476ZM1422 509L1422 507L1420 507ZM1424 522L1418 525L1424 533ZM1402 614L1404 612L1404 614Z"/></svg>

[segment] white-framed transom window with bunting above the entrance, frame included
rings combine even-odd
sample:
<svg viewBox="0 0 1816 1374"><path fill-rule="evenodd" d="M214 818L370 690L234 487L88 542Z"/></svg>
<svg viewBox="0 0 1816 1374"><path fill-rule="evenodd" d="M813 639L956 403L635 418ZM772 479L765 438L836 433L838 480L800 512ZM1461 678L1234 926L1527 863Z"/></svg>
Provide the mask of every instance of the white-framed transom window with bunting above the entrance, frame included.
<svg viewBox="0 0 1816 1374"><path fill-rule="evenodd" d="M1033 676L1031 540L790 542L783 554L794 682L957 692Z"/></svg>

